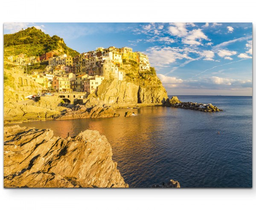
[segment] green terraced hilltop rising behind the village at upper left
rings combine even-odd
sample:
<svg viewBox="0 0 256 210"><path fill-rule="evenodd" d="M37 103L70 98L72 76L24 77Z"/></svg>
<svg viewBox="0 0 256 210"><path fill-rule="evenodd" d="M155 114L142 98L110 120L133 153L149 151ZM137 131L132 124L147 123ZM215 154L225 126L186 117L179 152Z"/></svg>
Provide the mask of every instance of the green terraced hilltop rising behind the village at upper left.
<svg viewBox="0 0 256 210"><path fill-rule="evenodd" d="M50 51L72 57L79 54L79 52L67 47L62 38L56 35L51 37L35 27L20 30L15 34L4 34L3 41L5 57L18 54L38 57Z"/></svg>

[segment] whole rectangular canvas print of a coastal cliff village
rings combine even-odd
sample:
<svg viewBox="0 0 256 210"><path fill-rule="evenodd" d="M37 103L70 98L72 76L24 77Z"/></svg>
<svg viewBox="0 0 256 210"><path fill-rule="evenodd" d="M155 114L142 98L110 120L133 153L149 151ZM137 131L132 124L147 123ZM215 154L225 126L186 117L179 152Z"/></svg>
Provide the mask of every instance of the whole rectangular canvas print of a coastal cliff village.
<svg viewBox="0 0 256 210"><path fill-rule="evenodd" d="M4 187L252 187L252 23L4 23Z"/></svg>

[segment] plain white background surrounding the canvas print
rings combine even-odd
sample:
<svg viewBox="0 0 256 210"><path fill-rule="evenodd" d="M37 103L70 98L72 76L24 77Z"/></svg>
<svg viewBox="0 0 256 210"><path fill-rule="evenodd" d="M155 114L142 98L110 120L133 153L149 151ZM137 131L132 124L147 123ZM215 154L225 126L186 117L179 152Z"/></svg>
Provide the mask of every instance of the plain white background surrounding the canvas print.
<svg viewBox="0 0 256 210"><path fill-rule="evenodd" d="M128 3L129 2L129 3ZM249 0L151 1L35 1L1 3L4 22L254 22L255 6ZM118 18L117 18L118 17ZM255 30L253 30L255 31ZM3 34L3 25L2 25ZM3 58L3 35L1 36ZM255 62L255 57L253 57ZM3 62L1 62L3 69ZM3 81L3 74L1 79ZM254 81L253 75L253 81ZM253 92L254 92L253 85ZM0 91L3 99L3 91ZM254 98L253 98L254 99ZM254 100L253 100L254 101ZM3 103L3 102L2 102ZM1 105L1 108L3 105ZM253 107L255 113L255 107ZM3 109L2 109L3 114ZM1 118L3 128L3 118ZM254 119L254 116L253 116ZM255 128L255 126L253 126ZM3 130L1 129L1 136ZM255 137L255 135L253 135ZM255 142L255 138L253 138ZM0 148L3 174L3 143ZM253 155L255 180L255 154ZM193 182L193 180L191 180ZM243 180L241 180L242 182ZM256 206L253 189L3 189L3 209L251 209Z"/></svg>

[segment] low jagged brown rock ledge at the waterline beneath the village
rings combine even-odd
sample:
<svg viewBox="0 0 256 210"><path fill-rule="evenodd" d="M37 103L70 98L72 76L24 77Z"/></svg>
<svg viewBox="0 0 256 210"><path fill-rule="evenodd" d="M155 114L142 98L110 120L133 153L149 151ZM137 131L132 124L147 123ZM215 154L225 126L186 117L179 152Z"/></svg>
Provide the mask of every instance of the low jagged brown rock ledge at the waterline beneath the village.
<svg viewBox="0 0 256 210"><path fill-rule="evenodd" d="M76 105L72 108L66 108L61 111L54 119L77 119L77 118L97 118L97 117L116 117L119 114L115 113L113 107L109 105Z"/></svg>

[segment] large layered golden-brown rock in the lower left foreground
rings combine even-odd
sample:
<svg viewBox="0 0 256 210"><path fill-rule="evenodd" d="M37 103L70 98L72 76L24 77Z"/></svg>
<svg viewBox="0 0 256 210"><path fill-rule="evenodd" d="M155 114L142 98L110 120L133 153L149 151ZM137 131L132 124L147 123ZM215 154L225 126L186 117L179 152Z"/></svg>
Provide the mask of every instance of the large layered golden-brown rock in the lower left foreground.
<svg viewBox="0 0 256 210"><path fill-rule="evenodd" d="M98 131L63 138L49 129L4 128L4 187L128 187L116 166Z"/></svg>

